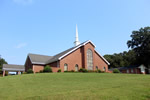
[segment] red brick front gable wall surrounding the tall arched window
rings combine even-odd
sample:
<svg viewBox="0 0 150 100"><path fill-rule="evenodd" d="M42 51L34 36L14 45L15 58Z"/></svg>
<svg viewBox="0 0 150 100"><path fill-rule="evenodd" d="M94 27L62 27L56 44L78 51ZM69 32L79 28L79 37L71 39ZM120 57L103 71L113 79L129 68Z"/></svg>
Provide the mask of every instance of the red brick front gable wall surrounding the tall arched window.
<svg viewBox="0 0 150 100"><path fill-rule="evenodd" d="M106 68L108 72L108 65L102 60L102 58L95 52L94 46L91 43L86 44L84 47L81 47L74 51L73 53L67 55L60 61L60 68L64 71L64 64L68 64L68 71L75 70L75 65L78 64L80 68L87 69L87 50L91 49L93 52L93 66L98 66L99 69L103 70L103 67Z"/></svg>

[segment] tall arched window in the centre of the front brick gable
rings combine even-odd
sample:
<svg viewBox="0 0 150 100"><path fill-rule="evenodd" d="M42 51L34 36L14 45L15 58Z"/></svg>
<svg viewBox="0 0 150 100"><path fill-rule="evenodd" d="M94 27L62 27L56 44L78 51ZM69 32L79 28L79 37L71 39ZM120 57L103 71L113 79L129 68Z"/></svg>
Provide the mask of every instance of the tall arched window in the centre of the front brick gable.
<svg viewBox="0 0 150 100"><path fill-rule="evenodd" d="M91 49L87 50L87 69L93 70L93 52Z"/></svg>

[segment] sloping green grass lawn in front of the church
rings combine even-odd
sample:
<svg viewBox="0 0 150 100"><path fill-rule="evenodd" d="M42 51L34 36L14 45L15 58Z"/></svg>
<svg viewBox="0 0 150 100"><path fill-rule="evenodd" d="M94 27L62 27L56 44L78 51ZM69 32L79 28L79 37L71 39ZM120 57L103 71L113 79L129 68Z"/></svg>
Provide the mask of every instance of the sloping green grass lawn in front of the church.
<svg viewBox="0 0 150 100"><path fill-rule="evenodd" d="M47 73L1 77L0 100L150 100L150 75Z"/></svg>

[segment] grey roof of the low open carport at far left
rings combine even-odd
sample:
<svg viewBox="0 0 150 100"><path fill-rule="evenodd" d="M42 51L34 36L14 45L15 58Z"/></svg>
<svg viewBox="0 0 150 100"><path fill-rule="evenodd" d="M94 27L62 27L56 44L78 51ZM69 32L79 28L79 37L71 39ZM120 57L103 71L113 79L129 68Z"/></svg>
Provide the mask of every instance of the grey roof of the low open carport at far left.
<svg viewBox="0 0 150 100"><path fill-rule="evenodd" d="M6 71L25 71L23 65L3 64L2 70Z"/></svg>

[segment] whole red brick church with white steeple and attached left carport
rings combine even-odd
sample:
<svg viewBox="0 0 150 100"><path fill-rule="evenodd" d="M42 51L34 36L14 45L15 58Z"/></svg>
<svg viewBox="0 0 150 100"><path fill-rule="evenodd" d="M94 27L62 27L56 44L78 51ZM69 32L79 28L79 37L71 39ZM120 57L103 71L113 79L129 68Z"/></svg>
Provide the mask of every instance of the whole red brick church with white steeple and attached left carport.
<svg viewBox="0 0 150 100"><path fill-rule="evenodd" d="M79 42L77 26L74 44L74 47L54 56L28 54L25 65L5 64L3 65L3 76L5 71L14 71L20 74L20 72L32 69L34 73L40 72L46 65L50 65L53 72L57 72L59 69L62 72L79 71L80 68L87 70L100 69L101 71L108 72L109 62L95 50L96 46L90 40L83 43Z"/></svg>

